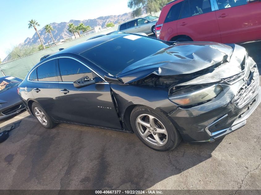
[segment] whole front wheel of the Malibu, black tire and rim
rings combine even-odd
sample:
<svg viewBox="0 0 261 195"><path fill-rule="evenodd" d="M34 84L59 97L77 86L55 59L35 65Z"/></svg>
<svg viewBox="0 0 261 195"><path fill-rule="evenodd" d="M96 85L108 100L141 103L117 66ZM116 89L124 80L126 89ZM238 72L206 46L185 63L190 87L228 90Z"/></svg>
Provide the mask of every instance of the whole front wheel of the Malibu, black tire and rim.
<svg viewBox="0 0 261 195"><path fill-rule="evenodd" d="M130 122L134 133L142 143L154 150L173 150L182 140L170 120L149 107L136 106L131 113Z"/></svg>

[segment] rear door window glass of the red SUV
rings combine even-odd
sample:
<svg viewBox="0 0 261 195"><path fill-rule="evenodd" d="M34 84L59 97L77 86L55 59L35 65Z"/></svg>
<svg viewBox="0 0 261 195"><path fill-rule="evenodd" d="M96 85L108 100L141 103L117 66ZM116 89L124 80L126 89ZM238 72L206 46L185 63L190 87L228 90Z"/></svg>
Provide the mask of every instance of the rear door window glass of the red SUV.
<svg viewBox="0 0 261 195"><path fill-rule="evenodd" d="M209 0L185 0L180 18L187 18L199 14L211 12Z"/></svg>

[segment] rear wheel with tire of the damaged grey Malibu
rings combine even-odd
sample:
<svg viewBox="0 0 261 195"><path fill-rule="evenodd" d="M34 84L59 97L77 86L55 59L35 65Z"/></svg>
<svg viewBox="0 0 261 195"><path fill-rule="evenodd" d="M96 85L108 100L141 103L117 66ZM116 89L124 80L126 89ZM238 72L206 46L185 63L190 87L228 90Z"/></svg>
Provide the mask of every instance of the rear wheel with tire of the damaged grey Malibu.
<svg viewBox="0 0 261 195"><path fill-rule="evenodd" d="M50 116L44 111L40 104L34 102L32 104L32 112L44 128L52 129L56 126L56 124L53 122L53 120L51 120Z"/></svg>

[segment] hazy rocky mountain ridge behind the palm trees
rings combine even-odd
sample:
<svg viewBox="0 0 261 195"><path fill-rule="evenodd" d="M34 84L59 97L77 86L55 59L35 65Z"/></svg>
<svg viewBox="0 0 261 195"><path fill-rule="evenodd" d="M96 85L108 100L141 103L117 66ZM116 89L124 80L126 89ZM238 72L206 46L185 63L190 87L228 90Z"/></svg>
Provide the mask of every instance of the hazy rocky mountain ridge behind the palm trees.
<svg viewBox="0 0 261 195"><path fill-rule="evenodd" d="M60 39L67 39L71 36L73 36L71 33L69 33L68 24L74 23L74 25L78 25L79 23L83 23L86 26L89 25L92 28L95 26L102 26L104 27L108 22L113 22L114 24L124 22L127 20L130 20L132 18L132 12L121 14L121 15L110 15L110 16L101 16L99 18L95 19L87 19L87 20L70 20L69 22L61 22L61 23L50 23L51 26L53 26L54 30L52 31L53 38L55 41L58 41ZM53 42L50 34L45 34L44 27L40 30L38 29L38 32L44 42L44 44L47 44L47 41ZM77 35L77 34L76 34ZM25 41L20 45L31 45L31 44L40 44L40 40L38 38L38 35L35 33L32 38L27 37Z"/></svg>

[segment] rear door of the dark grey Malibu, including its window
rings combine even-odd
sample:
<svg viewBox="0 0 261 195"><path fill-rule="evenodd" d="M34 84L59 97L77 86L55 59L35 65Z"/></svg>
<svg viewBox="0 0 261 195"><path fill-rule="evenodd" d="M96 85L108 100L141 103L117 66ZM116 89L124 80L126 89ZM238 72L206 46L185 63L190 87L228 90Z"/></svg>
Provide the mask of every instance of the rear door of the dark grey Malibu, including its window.
<svg viewBox="0 0 261 195"><path fill-rule="evenodd" d="M58 90L56 59L49 60L38 66L32 71L29 79L32 82L32 95L35 100L53 119L61 120L59 109L61 97Z"/></svg>

